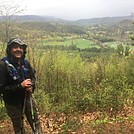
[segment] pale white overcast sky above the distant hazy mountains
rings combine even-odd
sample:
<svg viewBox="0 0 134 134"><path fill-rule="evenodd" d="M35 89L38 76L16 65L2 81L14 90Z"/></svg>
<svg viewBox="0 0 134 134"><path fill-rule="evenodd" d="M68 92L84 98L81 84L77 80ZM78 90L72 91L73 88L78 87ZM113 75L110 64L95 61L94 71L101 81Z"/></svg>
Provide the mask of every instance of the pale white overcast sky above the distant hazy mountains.
<svg viewBox="0 0 134 134"><path fill-rule="evenodd" d="M2 1L2 0L0 0ZM14 0L15 1L15 0ZM25 7L23 14L63 19L129 16L134 0L16 0ZM12 0L10 0L12 2Z"/></svg>

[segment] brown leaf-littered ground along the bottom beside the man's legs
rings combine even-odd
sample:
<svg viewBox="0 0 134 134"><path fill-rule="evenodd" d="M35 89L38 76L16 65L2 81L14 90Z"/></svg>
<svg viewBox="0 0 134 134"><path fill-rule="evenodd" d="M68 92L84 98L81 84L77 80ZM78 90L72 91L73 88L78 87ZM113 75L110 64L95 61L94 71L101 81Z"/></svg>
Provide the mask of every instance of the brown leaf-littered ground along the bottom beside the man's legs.
<svg viewBox="0 0 134 134"><path fill-rule="evenodd" d="M114 117L94 113L71 113L40 116L45 134L134 134L133 112L120 112ZM31 134L29 124L25 121L26 134ZM0 120L0 134L13 134L9 119Z"/></svg>

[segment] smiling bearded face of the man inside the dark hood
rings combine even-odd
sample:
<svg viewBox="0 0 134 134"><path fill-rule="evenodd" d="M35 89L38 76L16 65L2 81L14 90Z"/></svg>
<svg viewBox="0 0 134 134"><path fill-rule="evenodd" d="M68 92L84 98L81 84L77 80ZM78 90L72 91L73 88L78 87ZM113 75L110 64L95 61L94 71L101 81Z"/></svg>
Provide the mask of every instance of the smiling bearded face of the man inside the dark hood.
<svg viewBox="0 0 134 134"><path fill-rule="evenodd" d="M13 46L11 47L12 57L19 60L22 58L23 54L24 54L23 46L17 43L13 44Z"/></svg>

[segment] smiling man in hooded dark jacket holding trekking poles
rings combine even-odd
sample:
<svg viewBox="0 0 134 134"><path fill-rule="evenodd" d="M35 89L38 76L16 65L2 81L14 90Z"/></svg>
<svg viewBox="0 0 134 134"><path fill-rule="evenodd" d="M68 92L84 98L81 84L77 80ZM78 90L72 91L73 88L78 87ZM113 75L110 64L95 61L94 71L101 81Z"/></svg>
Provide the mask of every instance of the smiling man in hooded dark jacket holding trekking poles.
<svg viewBox="0 0 134 134"><path fill-rule="evenodd" d="M33 92L35 71L25 59L27 45L19 38L11 39L6 48L7 57L0 62L0 93L15 134L25 134L24 114L33 134L41 134Z"/></svg>

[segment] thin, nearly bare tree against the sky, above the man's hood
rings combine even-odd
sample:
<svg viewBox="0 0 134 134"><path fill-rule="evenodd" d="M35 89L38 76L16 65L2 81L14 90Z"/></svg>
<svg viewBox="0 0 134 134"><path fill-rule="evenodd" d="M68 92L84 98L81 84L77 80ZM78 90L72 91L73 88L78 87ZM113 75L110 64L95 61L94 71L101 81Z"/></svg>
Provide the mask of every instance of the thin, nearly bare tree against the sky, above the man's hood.
<svg viewBox="0 0 134 134"><path fill-rule="evenodd" d="M20 8L20 5L13 3L13 1L3 1L0 3L0 40L3 44L11 38L17 15L22 13L22 11L23 9Z"/></svg>

